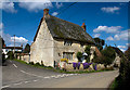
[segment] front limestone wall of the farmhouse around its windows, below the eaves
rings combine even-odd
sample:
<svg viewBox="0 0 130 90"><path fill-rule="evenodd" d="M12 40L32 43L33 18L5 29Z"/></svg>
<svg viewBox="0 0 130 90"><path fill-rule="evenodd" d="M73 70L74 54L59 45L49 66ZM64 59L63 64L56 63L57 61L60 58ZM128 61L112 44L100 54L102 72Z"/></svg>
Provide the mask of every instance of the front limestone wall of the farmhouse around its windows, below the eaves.
<svg viewBox="0 0 130 90"><path fill-rule="evenodd" d="M74 52L73 60L70 60L68 62L69 63L78 62L76 54L77 54L77 52L83 52L87 44L81 47L80 43L77 41L73 41L72 46L64 46L64 40L55 39L54 40L54 61L60 62L60 60L63 59L63 52Z"/></svg>

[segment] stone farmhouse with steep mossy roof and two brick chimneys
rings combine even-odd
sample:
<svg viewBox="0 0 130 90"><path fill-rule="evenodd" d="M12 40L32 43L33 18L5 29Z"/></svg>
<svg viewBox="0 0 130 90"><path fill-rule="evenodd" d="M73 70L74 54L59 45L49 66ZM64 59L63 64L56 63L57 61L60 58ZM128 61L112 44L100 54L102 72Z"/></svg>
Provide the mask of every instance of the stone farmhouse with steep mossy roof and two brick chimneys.
<svg viewBox="0 0 130 90"><path fill-rule="evenodd" d="M88 44L94 47L95 42L87 34L84 23L79 26L50 15L49 9L43 11L43 17L30 46L29 62L54 67L61 59L68 59L69 63L77 62L77 52L84 52Z"/></svg>

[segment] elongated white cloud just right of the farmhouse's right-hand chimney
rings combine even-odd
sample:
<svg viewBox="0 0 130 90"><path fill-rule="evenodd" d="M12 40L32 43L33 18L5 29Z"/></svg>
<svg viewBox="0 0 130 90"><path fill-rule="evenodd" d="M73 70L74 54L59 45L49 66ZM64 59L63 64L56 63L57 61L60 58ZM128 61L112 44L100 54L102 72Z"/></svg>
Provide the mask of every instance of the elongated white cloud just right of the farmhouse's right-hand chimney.
<svg viewBox="0 0 130 90"><path fill-rule="evenodd" d="M98 28L93 29L94 33L106 31L106 33L118 33L121 29L121 26L99 26Z"/></svg>

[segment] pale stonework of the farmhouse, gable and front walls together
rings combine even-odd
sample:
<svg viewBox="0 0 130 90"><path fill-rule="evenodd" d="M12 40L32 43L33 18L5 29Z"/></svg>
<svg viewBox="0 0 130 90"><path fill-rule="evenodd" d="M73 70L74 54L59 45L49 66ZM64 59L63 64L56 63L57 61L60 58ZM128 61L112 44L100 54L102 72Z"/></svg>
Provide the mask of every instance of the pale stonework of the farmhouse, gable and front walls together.
<svg viewBox="0 0 130 90"><path fill-rule="evenodd" d="M63 59L63 52L74 53L69 63L78 62L76 54L77 52L84 52L86 46L88 43L81 47L80 42L74 40L72 46L64 46L64 39L53 38L46 21L42 21L36 40L30 46L29 62L40 64L42 62L46 66L54 67L54 61L58 63Z"/></svg>

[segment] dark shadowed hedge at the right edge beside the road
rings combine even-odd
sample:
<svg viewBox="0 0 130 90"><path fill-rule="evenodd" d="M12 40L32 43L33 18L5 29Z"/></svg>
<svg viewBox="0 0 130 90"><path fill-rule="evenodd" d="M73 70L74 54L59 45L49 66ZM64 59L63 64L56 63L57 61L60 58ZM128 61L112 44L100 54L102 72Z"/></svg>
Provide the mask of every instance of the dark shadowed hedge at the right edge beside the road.
<svg viewBox="0 0 130 90"><path fill-rule="evenodd" d="M115 79L110 87L113 90L130 88L130 60L128 52L130 52L130 48L128 48L125 52L125 55L121 55L119 76Z"/></svg>

